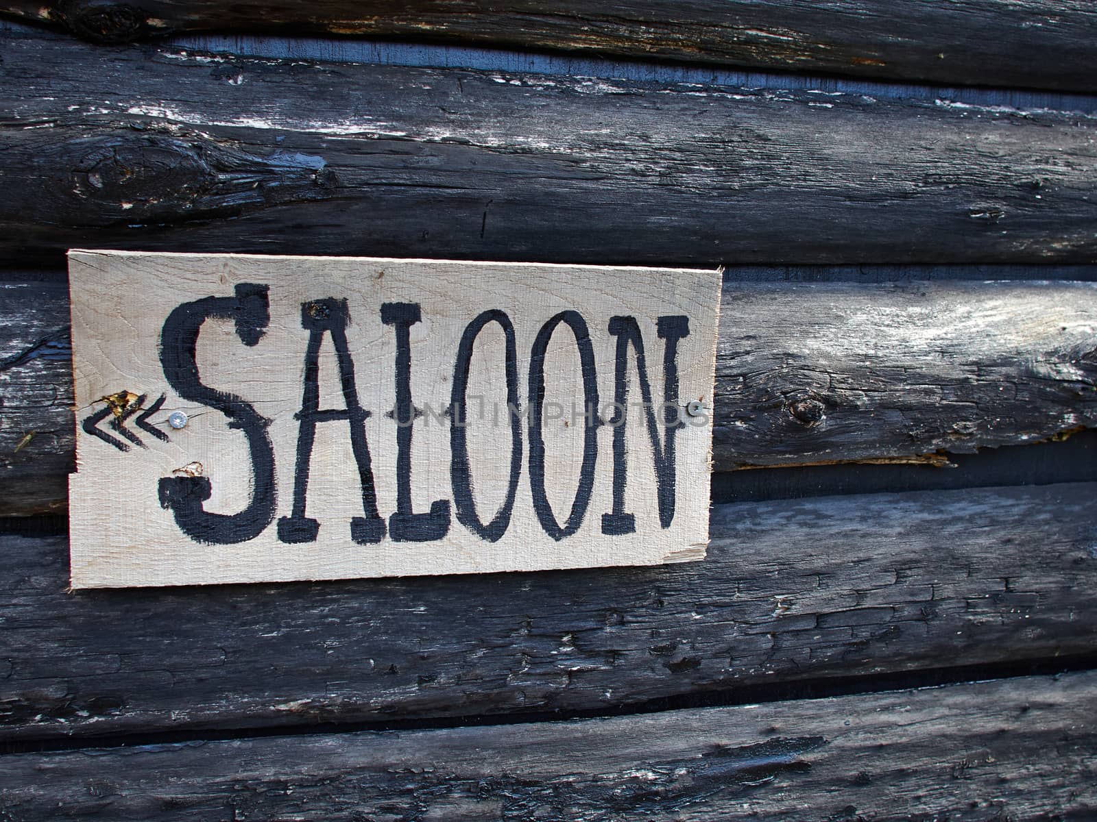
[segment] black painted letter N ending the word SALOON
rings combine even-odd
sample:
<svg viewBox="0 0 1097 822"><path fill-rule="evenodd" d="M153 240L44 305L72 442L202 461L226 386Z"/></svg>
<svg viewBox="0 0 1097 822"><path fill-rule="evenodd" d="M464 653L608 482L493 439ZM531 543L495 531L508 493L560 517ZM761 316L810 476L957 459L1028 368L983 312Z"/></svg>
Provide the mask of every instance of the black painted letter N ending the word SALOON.
<svg viewBox="0 0 1097 822"><path fill-rule="evenodd" d="M666 433L661 443L655 408L652 406L652 385L647 377L647 362L644 356L644 339L635 317L612 317L610 333L617 338L617 363L613 374L613 512L602 514L602 534L632 534L636 530L636 517L624 510L624 489L629 465L625 453L625 424L629 403L629 345L636 354L636 372L643 401L647 434L652 439L655 463L656 498L659 507L659 524L670 527L675 518L675 435L682 426L678 414L678 341L689 336L689 320L686 317L660 317L658 335L666 343L663 350L663 425Z"/></svg>

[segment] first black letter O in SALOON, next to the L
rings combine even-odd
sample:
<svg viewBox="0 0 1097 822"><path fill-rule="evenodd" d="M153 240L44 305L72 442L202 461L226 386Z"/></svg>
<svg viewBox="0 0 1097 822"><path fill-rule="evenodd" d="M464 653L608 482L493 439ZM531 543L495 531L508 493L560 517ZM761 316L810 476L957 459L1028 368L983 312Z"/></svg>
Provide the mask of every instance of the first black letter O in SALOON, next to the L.
<svg viewBox="0 0 1097 822"><path fill-rule="evenodd" d="M487 525L480 522L476 513L476 502L473 499L472 469L468 465L468 410L466 392L468 389L468 367L473 356L473 345L479 332L489 322L499 323L507 341L505 354L507 366L507 416L510 418L510 484L507 487L507 499ZM510 412L513 409L513 412ZM450 479L453 484L453 503L456 509L457 522L474 534L496 541L507 533L510 525L510 514L514 510L514 496L518 493L518 479L522 472L522 423L518 413L518 349L514 342L514 327L506 313L497 309L484 311L468 323L461 344L457 347L457 358L453 366L453 389L450 395Z"/></svg>

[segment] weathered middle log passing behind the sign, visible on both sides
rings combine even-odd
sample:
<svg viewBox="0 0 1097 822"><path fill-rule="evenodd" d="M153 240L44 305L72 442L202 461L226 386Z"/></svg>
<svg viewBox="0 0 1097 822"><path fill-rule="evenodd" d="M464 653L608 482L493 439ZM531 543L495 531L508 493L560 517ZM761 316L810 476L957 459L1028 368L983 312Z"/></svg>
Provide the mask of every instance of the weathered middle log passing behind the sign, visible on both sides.
<svg viewBox="0 0 1097 822"><path fill-rule="evenodd" d="M64 511L75 447L67 294L13 283L0 295L0 483L11 489L0 512ZM716 470L941 463L1097 421L1090 283L728 282L722 305ZM31 432L42 435L23 443Z"/></svg>

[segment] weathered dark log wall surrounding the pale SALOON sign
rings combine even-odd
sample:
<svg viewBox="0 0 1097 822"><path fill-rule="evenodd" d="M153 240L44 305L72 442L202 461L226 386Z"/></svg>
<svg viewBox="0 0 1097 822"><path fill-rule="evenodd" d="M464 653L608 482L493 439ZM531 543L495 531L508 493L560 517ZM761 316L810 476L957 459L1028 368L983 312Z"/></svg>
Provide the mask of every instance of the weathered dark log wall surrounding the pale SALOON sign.
<svg viewBox="0 0 1097 822"><path fill-rule="evenodd" d="M1083 4L807 7L0 12L100 41L429 31L1097 88ZM799 467L717 480L784 471L798 496L819 493L819 464L900 470L1055 438L1075 461L1089 453L1093 432L1071 437L1097 413L1093 98L292 50L0 26L0 517L65 513L71 246L734 263L715 467ZM972 454L989 466L979 484L1040 447ZM23 532L0 536L0 739L14 752L0 817L1085 819L1097 483L1066 478L719 504L709 559L671 568L169 592L66 593L66 540L0 518ZM104 478L104 504L110 492ZM1017 676L1061 669L1079 673ZM804 698L972 676L1015 678ZM759 697L780 700L742 705ZM732 707L657 710L698 703ZM630 716L543 721L558 712ZM502 727L441 727L478 717ZM357 723L429 729L348 733ZM98 744L122 747L82 747Z"/></svg>

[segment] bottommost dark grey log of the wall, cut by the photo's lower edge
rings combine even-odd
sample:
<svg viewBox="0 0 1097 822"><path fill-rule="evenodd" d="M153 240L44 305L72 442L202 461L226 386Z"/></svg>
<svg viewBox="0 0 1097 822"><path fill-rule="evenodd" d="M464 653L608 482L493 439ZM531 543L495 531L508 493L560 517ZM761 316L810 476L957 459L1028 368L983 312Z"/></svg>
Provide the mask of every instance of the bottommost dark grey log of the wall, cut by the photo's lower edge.
<svg viewBox="0 0 1097 822"><path fill-rule="evenodd" d="M1097 674L405 733L0 758L19 822L1084 820Z"/></svg>

